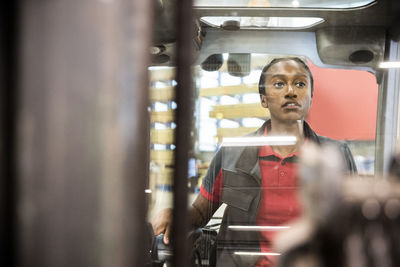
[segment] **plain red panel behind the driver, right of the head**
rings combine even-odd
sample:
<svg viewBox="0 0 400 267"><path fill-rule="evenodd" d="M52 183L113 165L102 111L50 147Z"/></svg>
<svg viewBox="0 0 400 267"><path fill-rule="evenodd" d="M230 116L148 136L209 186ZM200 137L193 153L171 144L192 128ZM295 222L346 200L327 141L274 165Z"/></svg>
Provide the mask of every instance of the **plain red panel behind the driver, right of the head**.
<svg viewBox="0 0 400 267"><path fill-rule="evenodd" d="M378 84L366 71L324 69L308 62L314 97L307 121L320 135L375 140Z"/></svg>

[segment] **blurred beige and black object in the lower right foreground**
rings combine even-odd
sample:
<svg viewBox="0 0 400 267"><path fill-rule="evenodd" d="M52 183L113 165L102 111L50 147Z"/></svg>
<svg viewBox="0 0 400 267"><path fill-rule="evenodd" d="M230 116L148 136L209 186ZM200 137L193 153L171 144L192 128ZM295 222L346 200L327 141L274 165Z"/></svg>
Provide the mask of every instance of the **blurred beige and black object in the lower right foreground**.
<svg viewBox="0 0 400 267"><path fill-rule="evenodd" d="M304 149L305 212L278 237L278 266L400 266L400 182L341 177L340 169L333 148Z"/></svg>

